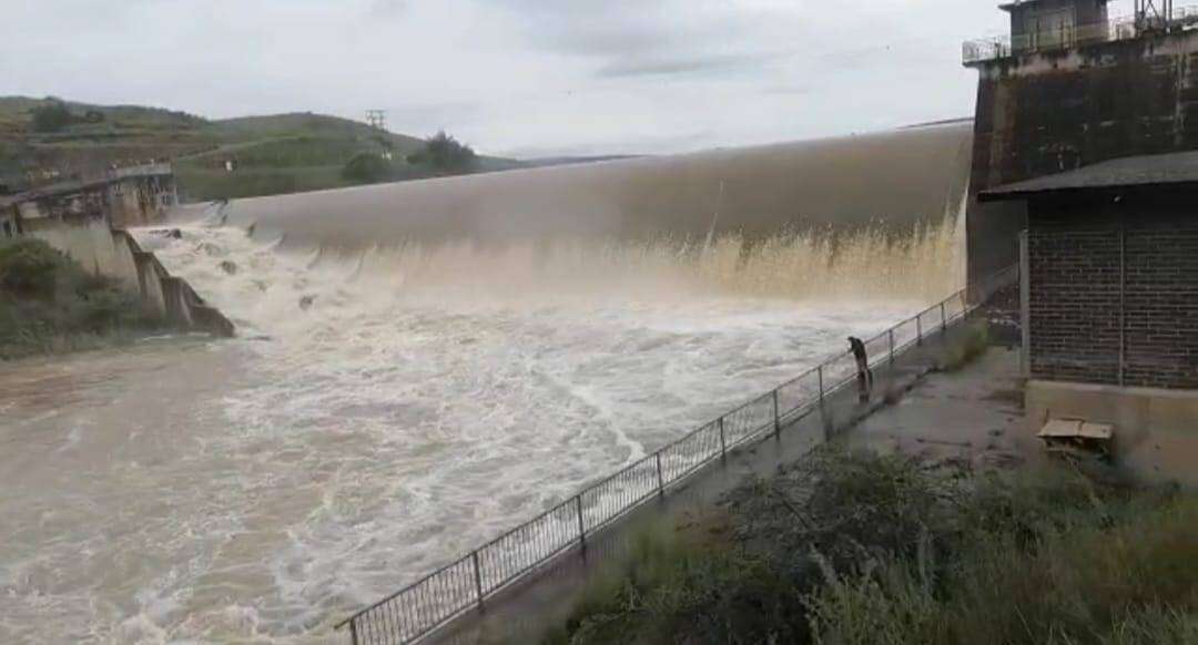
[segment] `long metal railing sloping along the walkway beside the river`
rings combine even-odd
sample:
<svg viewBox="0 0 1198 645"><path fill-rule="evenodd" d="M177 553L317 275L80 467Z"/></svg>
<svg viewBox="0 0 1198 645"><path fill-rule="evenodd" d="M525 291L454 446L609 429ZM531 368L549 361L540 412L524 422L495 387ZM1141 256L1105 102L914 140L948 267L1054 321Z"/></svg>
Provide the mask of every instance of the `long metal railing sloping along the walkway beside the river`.
<svg viewBox="0 0 1198 645"><path fill-rule="evenodd" d="M1017 270L1004 269L865 341L870 366L893 364L897 353L944 333L996 291L1015 284ZM585 548L595 531L645 501L665 497L671 486L703 466L738 446L779 434L855 378L853 354L836 354L362 609L337 629L347 626L355 645L413 643L454 617L480 609L488 597L570 547Z"/></svg>

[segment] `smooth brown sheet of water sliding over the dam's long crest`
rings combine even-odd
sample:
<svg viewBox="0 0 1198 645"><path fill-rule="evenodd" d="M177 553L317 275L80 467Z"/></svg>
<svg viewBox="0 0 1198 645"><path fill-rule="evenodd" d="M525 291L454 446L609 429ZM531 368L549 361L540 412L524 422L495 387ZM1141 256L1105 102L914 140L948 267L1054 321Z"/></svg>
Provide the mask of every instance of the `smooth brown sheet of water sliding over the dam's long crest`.
<svg viewBox="0 0 1198 645"><path fill-rule="evenodd" d="M702 242L783 230L907 230L952 217L967 190L968 122L800 141L237 200L228 221L286 243L587 237Z"/></svg>

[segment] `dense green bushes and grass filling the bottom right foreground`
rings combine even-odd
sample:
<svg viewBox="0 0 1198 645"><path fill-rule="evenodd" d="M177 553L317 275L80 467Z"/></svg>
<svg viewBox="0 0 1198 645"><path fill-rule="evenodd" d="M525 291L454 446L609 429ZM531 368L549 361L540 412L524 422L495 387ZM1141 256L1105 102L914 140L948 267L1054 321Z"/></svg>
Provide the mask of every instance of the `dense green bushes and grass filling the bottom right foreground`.
<svg viewBox="0 0 1198 645"><path fill-rule="evenodd" d="M640 536L547 644L1182 644L1198 498L823 449Z"/></svg>

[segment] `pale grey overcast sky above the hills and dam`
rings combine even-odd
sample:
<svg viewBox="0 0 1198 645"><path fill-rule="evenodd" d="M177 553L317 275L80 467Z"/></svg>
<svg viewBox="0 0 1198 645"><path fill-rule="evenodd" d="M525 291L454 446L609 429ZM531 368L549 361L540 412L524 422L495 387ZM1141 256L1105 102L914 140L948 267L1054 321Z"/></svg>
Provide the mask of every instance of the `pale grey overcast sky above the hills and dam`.
<svg viewBox="0 0 1198 645"><path fill-rule="evenodd" d="M0 95L388 112L519 157L970 116L996 0L0 0Z"/></svg>

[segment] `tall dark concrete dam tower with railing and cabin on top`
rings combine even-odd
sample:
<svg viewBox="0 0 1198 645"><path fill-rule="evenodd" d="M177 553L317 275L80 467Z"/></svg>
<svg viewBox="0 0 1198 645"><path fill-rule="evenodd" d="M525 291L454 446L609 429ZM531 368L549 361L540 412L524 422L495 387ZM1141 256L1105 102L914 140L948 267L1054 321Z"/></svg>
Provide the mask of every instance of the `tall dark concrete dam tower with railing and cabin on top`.
<svg viewBox="0 0 1198 645"><path fill-rule="evenodd" d="M1120 157L1198 148L1198 7L1022 0L1010 35L964 43L978 69L970 194ZM1021 203L968 208L969 278L1015 263Z"/></svg>

